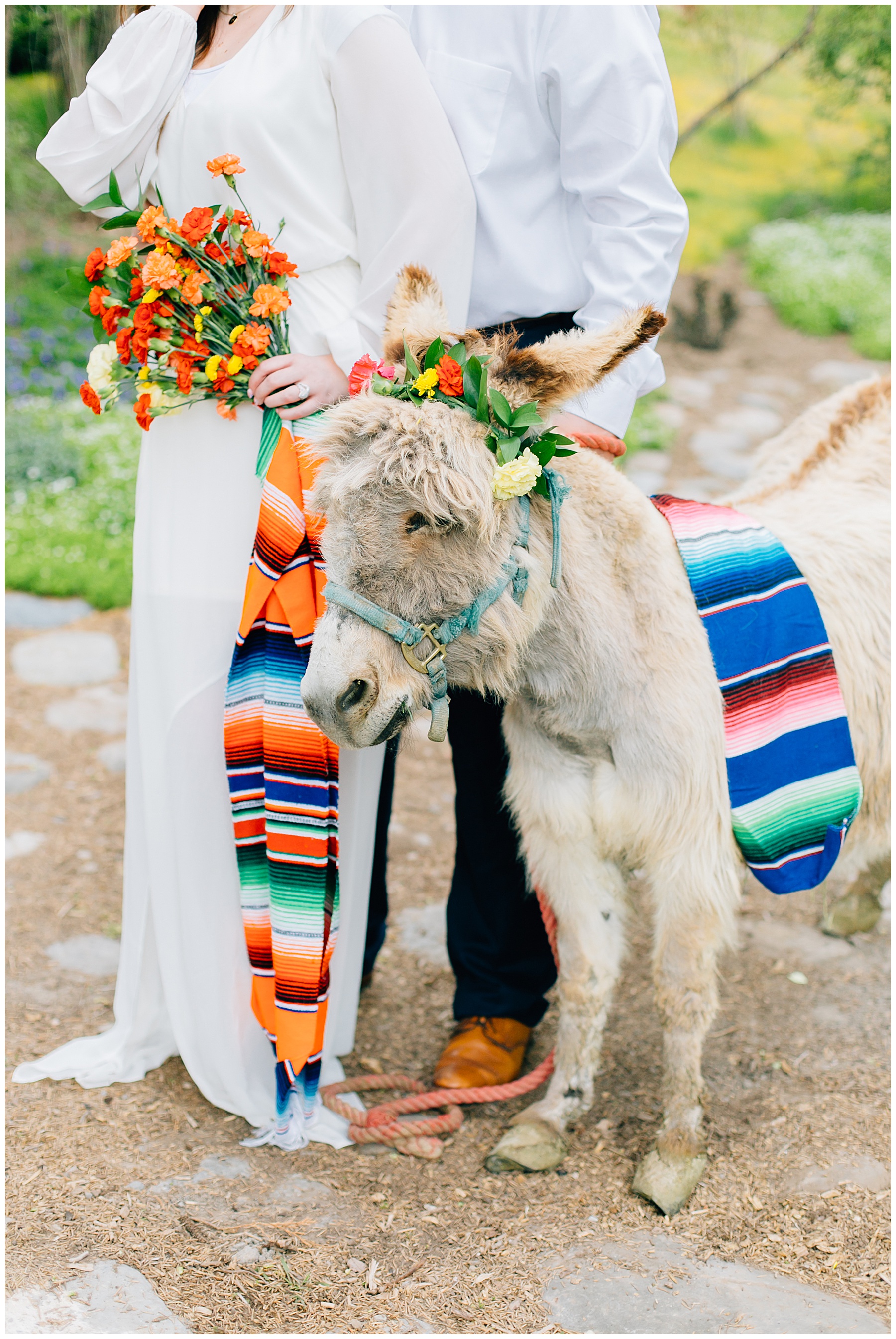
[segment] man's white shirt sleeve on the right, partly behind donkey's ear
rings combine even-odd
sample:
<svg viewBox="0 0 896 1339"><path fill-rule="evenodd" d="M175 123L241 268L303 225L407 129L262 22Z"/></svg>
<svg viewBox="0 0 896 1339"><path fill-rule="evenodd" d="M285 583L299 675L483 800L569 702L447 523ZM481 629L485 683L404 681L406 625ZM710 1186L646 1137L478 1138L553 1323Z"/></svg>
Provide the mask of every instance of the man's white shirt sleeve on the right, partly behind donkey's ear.
<svg viewBox="0 0 896 1339"><path fill-rule="evenodd" d="M652 5L557 5L542 75L560 141L563 185L585 217L585 328L624 308L668 303L687 240L687 206L670 177L678 121ZM655 343L655 341L654 341ZM644 345L593 391L567 406L621 437L635 399L662 386Z"/></svg>

